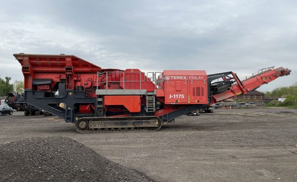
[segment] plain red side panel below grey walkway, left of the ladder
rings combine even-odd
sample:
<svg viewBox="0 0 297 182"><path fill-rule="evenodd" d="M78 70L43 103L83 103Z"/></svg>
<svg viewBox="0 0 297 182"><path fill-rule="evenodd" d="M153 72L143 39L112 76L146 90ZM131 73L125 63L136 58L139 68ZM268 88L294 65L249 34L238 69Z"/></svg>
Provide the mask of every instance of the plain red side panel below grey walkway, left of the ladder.
<svg viewBox="0 0 297 182"><path fill-rule="evenodd" d="M123 105L130 112L140 112L140 96L139 95L106 95L103 96L104 108L107 105Z"/></svg>

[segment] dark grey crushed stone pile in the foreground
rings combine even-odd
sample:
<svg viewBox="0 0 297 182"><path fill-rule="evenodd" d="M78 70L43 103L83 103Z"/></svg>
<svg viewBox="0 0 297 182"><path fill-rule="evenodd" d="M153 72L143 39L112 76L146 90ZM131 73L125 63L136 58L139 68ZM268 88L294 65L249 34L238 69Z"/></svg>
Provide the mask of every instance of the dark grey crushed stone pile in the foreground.
<svg viewBox="0 0 297 182"><path fill-rule="evenodd" d="M0 182L152 182L67 137L0 145Z"/></svg>

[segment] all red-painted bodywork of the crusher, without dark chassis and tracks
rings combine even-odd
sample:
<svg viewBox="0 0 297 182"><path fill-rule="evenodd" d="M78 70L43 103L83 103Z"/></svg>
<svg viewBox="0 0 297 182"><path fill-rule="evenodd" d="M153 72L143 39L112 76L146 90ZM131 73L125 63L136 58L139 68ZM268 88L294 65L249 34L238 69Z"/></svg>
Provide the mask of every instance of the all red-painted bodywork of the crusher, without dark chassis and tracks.
<svg viewBox="0 0 297 182"><path fill-rule="evenodd" d="M164 70L158 77L158 87L151 82L139 69L101 69L75 55L41 55L41 54L14 54L22 65L24 74L24 89L36 91L57 91L58 83L65 83L65 89L85 91L86 97L97 98L95 88L102 90L146 90L163 103L162 108L155 111L155 116L163 116L178 111L193 104L212 104L254 90L276 78L290 74L290 70L280 67L261 72L240 81L235 73L233 78L223 77L223 80L235 79L228 91L211 95L208 103L207 74L203 70ZM99 76L98 76L99 73ZM104 74L106 73L106 74ZM125 75L125 76L124 76ZM50 79L50 84L32 85L34 79ZM135 83L133 83L135 81ZM124 85L124 83L132 83ZM139 82L139 83L138 83ZM154 93L155 91L155 93ZM145 95L103 95L103 107L117 116L140 112L145 106ZM123 108L123 106L125 108ZM95 110L94 104L82 104L80 113L90 113ZM120 113L122 111L122 113Z"/></svg>

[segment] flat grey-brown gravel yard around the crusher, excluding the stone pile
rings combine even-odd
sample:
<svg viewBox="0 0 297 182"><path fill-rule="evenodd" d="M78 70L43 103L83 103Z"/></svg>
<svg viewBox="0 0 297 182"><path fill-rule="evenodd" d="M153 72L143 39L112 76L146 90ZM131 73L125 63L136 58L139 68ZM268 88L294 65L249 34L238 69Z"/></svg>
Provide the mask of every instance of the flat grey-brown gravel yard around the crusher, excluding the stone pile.
<svg viewBox="0 0 297 182"><path fill-rule="evenodd" d="M54 116L0 117L0 144L49 136L72 138L159 182L297 182L294 109L221 109L157 132L104 134L78 134Z"/></svg>

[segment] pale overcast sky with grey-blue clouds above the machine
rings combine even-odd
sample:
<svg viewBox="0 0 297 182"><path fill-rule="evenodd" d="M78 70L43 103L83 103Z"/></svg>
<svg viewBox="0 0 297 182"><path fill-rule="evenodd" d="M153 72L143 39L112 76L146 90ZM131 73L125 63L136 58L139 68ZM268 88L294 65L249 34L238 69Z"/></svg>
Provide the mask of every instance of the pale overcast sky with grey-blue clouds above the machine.
<svg viewBox="0 0 297 182"><path fill-rule="evenodd" d="M13 53L74 54L102 68L233 71L288 67L297 82L296 0L2 0L0 76L23 80Z"/></svg>

